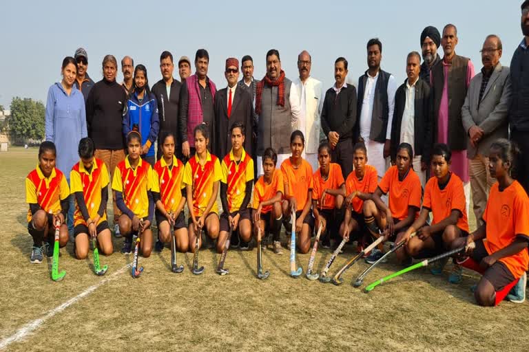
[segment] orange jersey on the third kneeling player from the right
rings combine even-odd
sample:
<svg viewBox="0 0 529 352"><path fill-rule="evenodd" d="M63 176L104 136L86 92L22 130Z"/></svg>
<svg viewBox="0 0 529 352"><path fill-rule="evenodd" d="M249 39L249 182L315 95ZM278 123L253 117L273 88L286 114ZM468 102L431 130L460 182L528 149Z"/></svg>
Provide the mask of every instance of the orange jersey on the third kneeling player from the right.
<svg viewBox="0 0 529 352"><path fill-rule="evenodd" d="M378 187L384 194L389 192L389 210L395 219L403 220L408 217L408 207L421 208L421 181L413 168L408 175L399 181L399 170L397 166L391 166L386 175L380 180ZM419 213L415 215L415 219Z"/></svg>

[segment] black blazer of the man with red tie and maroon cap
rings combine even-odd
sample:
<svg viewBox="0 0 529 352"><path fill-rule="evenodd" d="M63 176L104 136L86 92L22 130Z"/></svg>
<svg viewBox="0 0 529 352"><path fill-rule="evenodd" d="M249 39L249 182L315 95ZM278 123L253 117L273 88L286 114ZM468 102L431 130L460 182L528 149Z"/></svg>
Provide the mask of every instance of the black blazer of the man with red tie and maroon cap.
<svg viewBox="0 0 529 352"><path fill-rule="evenodd" d="M231 115L228 118L228 89L220 89L215 94L215 126L211 135L211 150L222 159L231 151L231 124L242 122L245 125L245 151L253 157L251 137L253 133L252 99L250 94L237 87L231 104Z"/></svg>

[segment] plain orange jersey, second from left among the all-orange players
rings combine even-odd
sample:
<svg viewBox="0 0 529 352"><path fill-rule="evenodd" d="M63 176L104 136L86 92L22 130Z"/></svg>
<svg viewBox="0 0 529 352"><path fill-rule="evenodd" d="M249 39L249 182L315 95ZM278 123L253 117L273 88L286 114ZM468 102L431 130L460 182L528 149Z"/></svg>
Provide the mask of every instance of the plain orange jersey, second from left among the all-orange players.
<svg viewBox="0 0 529 352"><path fill-rule="evenodd" d="M284 184L289 185L288 195L293 196L298 203L296 211L303 210L307 201L311 201L308 195L309 190L314 185L311 164L307 160L302 159L300 167L294 168L289 157L281 164L281 172L283 173Z"/></svg>

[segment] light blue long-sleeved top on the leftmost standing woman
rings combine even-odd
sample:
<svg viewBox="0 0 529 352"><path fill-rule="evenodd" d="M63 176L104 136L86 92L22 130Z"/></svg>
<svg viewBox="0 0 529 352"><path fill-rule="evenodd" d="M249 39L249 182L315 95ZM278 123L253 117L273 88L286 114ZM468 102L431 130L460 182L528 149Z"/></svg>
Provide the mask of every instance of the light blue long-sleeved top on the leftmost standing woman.
<svg viewBox="0 0 529 352"><path fill-rule="evenodd" d="M56 168L70 179L70 170L79 162L79 140L87 136L86 110L83 94L72 87L70 96L61 83L48 90L45 113L45 139L57 148Z"/></svg>

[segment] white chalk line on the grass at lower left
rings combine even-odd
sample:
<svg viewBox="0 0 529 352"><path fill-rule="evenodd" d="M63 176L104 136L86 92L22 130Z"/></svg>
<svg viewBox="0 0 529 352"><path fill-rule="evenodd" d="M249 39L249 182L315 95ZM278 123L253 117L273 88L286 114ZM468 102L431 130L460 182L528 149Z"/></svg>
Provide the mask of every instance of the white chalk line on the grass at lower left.
<svg viewBox="0 0 529 352"><path fill-rule="evenodd" d="M92 294L92 292L94 292L99 287L105 285L105 283L108 283L109 281L115 280L118 277L118 275L123 273L123 272L125 272L125 270L127 270L128 267L130 267L130 264L125 265L120 270L118 270L117 272L114 272L114 274L108 276L107 278L104 278L103 280L99 281L95 285L92 285L92 286L88 287L87 289L85 289L83 292L81 292L77 296L72 297L69 300L67 300L65 303L63 303L63 304L61 304L61 305L59 305L59 306L57 306L57 307L55 307L53 309L50 309L47 313L44 314L44 316L42 318L38 318L38 319L35 319L35 320L31 321L31 322L28 322L28 324L26 324L23 327L21 327L16 333L12 334L12 336L9 336L8 338L5 338L5 339L1 340L1 342L0 342L0 350L5 349L6 347L8 347L13 342L17 342L19 340L22 340L23 338L28 336L33 331L39 329L39 327L46 320L52 318L56 314L61 313L61 311L63 311L64 309L70 307L70 305L73 305L77 301L79 301L79 300L85 298L86 296Z"/></svg>

